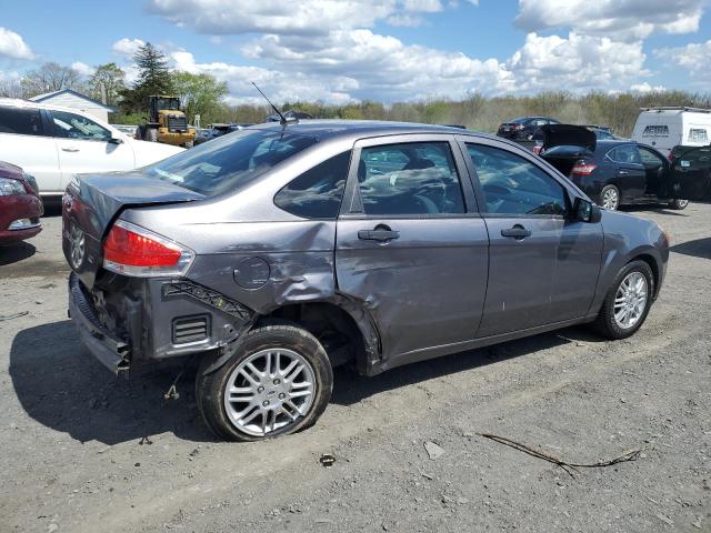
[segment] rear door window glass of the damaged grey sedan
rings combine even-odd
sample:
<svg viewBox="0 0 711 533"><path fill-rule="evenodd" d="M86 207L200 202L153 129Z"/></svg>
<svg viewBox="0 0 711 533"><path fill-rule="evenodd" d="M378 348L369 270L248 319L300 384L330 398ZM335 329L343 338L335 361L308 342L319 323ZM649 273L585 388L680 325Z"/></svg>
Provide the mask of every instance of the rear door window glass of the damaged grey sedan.
<svg viewBox="0 0 711 533"><path fill-rule="evenodd" d="M365 214L464 212L462 189L448 142L363 148L358 182Z"/></svg>

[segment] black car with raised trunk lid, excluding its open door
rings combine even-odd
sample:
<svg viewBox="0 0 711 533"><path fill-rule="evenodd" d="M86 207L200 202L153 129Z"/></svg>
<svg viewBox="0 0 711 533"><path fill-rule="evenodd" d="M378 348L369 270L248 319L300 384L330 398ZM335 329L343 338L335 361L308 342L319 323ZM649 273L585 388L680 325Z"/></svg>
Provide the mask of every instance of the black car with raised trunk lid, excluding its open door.
<svg viewBox="0 0 711 533"><path fill-rule="evenodd" d="M543 127L540 155L603 208L664 203L684 209L689 200L670 197L674 167L654 148L630 140L597 139L585 127Z"/></svg>

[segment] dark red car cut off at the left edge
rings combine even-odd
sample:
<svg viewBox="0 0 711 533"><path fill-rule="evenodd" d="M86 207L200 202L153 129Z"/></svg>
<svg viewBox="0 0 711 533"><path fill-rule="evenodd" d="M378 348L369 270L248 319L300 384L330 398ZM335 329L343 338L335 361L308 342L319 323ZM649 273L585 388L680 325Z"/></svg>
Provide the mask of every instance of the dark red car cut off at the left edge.
<svg viewBox="0 0 711 533"><path fill-rule="evenodd" d="M42 231L44 213L34 178L0 161L0 244L23 241Z"/></svg>

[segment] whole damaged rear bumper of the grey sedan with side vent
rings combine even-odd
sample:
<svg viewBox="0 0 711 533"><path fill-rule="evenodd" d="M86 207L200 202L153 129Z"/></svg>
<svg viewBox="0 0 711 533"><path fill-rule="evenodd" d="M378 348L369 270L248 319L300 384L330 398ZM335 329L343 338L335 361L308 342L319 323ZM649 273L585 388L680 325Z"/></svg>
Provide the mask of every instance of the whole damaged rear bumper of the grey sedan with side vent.
<svg viewBox="0 0 711 533"><path fill-rule="evenodd" d="M94 285L90 293L74 272L69 314L87 349L117 374L223 348L253 319L251 310L188 280L114 276L114 284Z"/></svg>

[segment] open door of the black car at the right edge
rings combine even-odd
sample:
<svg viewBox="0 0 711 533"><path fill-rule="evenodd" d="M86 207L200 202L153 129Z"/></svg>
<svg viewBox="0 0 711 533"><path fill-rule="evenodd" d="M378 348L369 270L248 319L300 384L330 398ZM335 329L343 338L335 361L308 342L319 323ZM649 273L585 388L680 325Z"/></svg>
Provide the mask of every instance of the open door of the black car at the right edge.
<svg viewBox="0 0 711 533"><path fill-rule="evenodd" d="M660 195L684 200L711 199L711 145L677 147Z"/></svg>

